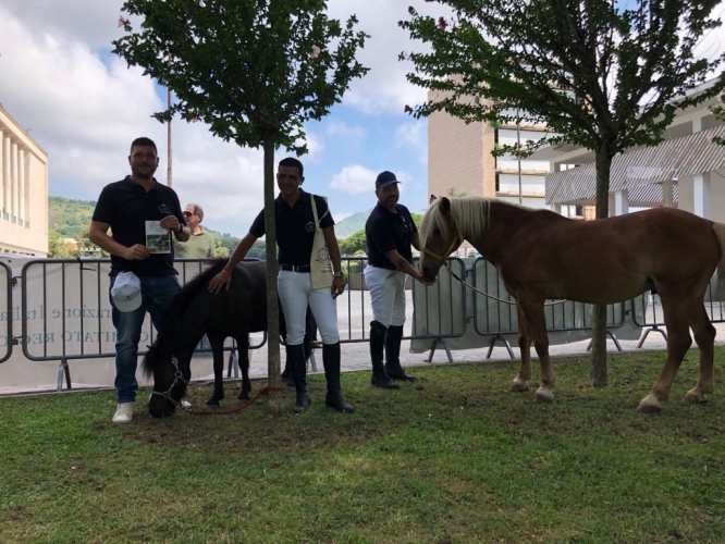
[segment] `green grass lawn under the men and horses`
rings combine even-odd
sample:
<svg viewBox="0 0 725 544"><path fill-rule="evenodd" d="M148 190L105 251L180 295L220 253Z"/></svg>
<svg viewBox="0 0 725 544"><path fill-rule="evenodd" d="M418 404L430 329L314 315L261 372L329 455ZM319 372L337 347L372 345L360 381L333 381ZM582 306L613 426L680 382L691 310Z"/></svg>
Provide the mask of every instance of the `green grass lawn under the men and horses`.
<svg viewBox="0 0 725 544"><path fill-rule="evenodd" d="M416 368L393 392L345 374L352 415L320 375L302 416L291 393L278 416L152 420L145 390L128 425L112 392L1 398L0 542L722 543L725 349L720 390L686 405L698 355L655 416L636 408L664 353L612 356L601 390L588 359L557 360L551 405L508 392L513 361Z"/></svg>

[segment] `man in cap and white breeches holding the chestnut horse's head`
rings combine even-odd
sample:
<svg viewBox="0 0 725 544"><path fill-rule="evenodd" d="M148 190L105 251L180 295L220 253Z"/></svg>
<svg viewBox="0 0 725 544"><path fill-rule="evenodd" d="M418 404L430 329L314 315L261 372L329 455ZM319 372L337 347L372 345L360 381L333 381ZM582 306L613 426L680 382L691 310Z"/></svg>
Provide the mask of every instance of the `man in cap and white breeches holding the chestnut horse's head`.
<svg viewBox="0 0 725 544"><path fill-rule="evenodd" d="M392 172L381 172L376 180L378 205L365 223L368 246L368 265L365 283L370 292L372 318L370 322L370 359L377 387L397 390L393 380L415 381L401 367L401 341L405 323L405 275L430 285L413 268L410 246L420 250L418 228L408 209L397 203L400 182ZM383 366L383 348L385 364Z"/></svg>

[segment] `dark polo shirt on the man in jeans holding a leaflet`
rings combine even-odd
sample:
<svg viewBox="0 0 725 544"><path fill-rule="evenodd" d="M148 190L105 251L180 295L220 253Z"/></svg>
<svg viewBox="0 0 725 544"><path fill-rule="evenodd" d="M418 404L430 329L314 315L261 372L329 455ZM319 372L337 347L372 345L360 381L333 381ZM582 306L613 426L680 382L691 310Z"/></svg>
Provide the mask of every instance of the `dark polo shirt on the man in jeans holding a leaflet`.
<svg viewBox="0 0 725 544"><path fill-rule="evenodd" d="M146 245L146 221L160 221L167 215L175 215L180 223L186 224L179 197L171 187L156 182L151 190L146 193L144 187L131 180L131 176L126 176L125 180L103 187L93 220L108 223L111 226L111 237L119 244L131 247L136 244ZM112 255L110 275L126 271L139 276L176 274L173 247L171 251L155 254L142 261Z"/></svg>

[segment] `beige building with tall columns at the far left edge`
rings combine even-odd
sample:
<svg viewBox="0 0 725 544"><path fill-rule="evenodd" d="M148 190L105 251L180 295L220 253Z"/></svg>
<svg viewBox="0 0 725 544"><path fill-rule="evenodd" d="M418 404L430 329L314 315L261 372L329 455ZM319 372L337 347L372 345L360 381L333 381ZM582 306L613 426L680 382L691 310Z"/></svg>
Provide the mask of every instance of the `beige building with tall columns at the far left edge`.
<svg viewBox="0 0 725 544"><path fill-rule="evenodd" d="M48 153L0 106L2 255L48 255Z"/></svg>

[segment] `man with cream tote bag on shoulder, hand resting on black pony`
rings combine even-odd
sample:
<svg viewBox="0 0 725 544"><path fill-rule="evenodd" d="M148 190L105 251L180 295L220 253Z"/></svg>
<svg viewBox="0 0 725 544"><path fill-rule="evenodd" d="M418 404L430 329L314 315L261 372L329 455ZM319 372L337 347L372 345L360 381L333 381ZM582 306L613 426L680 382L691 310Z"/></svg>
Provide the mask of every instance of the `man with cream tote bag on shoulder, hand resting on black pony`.
<svg viewBox="0 0 725 544"><path fill-rule="evenodd" d="M297 392L293 411L302 413L311 404L307 392L307 361L303 347L305 317L309 306L322 338L322 363L328 382L324 404L337 411L352 412L354 408L343 397L340 385L340 331L334 297L345 290L345 277L335 238L335 222L324 198L315 196L317 215L330 252L334 276L331 286L312 288L310 257L315 237L315 218L312 195L300 188L305 181L304 173L303 163L297 159L292 157L282 159L277 170L280 196L274 200L274 225L280 262L277 283L287 326L287 360ZM232 272L242 262L253 244L262 236L265 236L265 210L259 212L251 223L249 233L239 240L226 267L211 279L210 292L219 293L222 287L229 290Z"/></svg>

